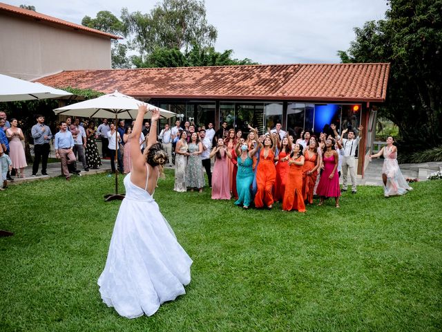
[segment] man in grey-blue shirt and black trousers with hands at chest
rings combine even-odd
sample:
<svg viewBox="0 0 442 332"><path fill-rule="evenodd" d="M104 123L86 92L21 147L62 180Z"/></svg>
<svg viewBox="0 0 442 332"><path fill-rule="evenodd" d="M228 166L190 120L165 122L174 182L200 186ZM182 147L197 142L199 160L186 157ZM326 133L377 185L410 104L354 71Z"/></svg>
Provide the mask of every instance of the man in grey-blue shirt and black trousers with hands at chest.
<svg viewBox="0 0 442 332"><path fill-rule="evenodd" d="M49 157L49 142L52 139L52 133L50 128L44 124L44 116L37 115L37 124L32 126L30 130L32 138L34 138L34 164L32 165L32 176L37 176L39 170L39 163L41 160L41 174L48 175L46 173L46 167L48 166Z"/></svg>

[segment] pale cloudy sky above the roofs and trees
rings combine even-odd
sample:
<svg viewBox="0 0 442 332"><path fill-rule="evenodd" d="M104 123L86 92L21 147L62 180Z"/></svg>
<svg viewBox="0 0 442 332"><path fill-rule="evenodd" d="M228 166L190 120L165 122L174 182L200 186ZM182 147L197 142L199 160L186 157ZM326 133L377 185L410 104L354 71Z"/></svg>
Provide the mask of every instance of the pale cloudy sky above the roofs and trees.
<svg viewBox="0 0 442 332"><path fill-rule="evenodd" d="M119 17L149 12L157 0L0 0L81 24L108 10ZM206 0L206 19L218 30L215 49L260 64L337 63L354 40L353 28L385 18L386 0Z"/></svg>

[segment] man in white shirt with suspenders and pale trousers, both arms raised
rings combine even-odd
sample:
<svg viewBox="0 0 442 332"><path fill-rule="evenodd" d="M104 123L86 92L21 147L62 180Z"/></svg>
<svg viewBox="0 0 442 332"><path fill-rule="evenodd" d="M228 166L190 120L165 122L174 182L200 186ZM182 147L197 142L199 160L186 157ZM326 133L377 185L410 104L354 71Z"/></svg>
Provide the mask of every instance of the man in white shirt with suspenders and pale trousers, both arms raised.
<svg viewBox="0 0 442 332"><path fill-rule="evenodd" d="M332 124L330 128L333 129L335 136L339 139L340 136L336 132L336 126ZM363 129L363 126L358 127L359 135L356 137L356 139L354 138L354 129L350 129L347 133L347 138L343 138L343 189L341 190L343 192L347 191L347 173L350 171L350 178L352 180L352 194L356 194L356 162L354 159L354 153L356 152L356 148L358 147L359 141L362 138ZM343 131L343 134L345 131Z"/></svg>

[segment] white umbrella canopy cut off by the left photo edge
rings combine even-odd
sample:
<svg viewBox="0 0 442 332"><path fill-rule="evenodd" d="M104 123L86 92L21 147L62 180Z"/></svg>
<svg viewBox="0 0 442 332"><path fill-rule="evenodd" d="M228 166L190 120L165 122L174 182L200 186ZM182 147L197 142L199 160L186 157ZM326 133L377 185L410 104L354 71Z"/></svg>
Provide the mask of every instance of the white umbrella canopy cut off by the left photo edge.
<svg viewBox="0 0 442 332"><path fill-rule="evenodd" d="M65 95L72 93L0 74L0 102L60 98Z"/></svg>

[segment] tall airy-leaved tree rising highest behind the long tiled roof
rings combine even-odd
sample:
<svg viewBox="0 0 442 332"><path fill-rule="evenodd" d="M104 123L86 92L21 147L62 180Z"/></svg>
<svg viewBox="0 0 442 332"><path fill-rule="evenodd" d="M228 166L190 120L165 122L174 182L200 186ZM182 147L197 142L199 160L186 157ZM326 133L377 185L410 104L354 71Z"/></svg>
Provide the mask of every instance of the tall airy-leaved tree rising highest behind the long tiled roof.
<svg viewBox="0 0 442 332"><path fill-rule="evenodd" d="M140 53L141 62L157 48L182 50L192 45L213 46L218 35L207 23L204 1L163 0L148 14L122 10L130 47Z"/></svg>

